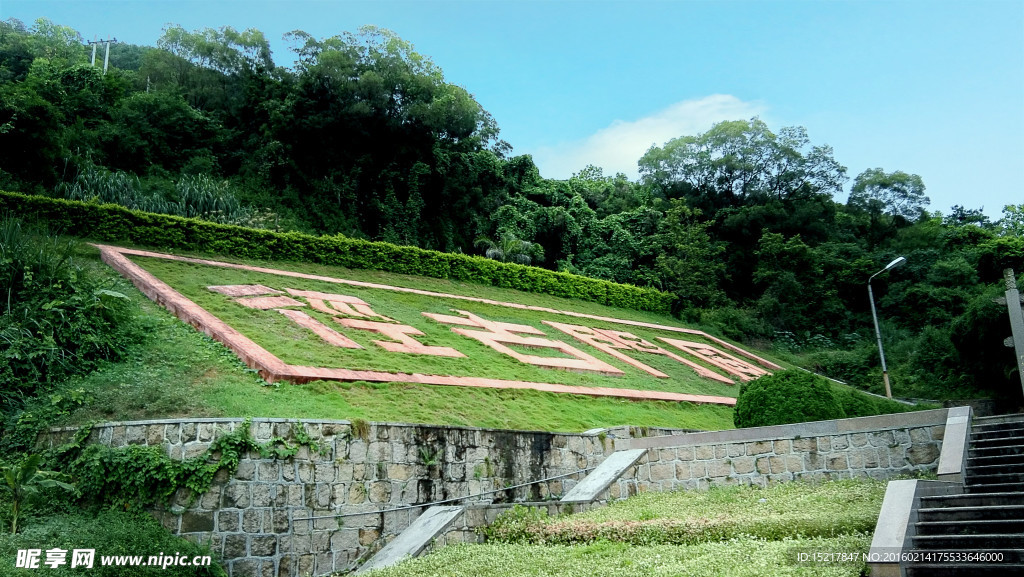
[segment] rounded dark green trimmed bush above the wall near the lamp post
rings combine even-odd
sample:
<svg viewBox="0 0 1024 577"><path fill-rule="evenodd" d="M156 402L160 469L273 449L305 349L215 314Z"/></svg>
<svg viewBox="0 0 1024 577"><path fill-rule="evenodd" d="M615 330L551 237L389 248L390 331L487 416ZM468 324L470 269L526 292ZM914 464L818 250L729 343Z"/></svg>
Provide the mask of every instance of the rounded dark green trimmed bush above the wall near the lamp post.
<svg viewBox="0 0 1024 577"><path fill-rule="evenodd" d="M831 384L812 373L779 371L739 388L732 421L737 427L841 419Z"/></svg>

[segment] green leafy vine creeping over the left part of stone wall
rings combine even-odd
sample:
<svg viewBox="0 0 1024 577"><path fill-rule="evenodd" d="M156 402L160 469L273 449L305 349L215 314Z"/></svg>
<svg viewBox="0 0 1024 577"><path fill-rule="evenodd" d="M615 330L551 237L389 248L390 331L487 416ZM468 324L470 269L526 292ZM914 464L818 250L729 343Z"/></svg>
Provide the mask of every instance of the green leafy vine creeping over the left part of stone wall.
<svg viewBox="0 0 1024 577"><path fill-rule="evenodd" d="M252 419L247 418L234 430L218 436L203 454L183 460L172 459L163 447L87 444L90 425L50 451L47 461L75 480L86 503L130 508L170 505L180 490L189 491L194 501L210 490L218 473L233 476L249 452L262 458L288 459L302 447L322 455L330 451L313 441L299 422L293 427L295 443L283 437L259 443L250 432L251 424Z"/></svg>

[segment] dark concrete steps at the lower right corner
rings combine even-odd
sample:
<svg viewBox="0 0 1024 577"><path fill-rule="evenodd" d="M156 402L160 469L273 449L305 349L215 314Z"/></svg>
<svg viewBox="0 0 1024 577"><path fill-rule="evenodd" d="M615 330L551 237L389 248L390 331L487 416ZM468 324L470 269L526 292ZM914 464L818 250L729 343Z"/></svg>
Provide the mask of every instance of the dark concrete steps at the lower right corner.
<svg viewBox="0 0 1024 577"><path fill-rule="evenodd" d="M964 490L921 497L906 575L1024 575L1024 414L974 419Z"/></svg>

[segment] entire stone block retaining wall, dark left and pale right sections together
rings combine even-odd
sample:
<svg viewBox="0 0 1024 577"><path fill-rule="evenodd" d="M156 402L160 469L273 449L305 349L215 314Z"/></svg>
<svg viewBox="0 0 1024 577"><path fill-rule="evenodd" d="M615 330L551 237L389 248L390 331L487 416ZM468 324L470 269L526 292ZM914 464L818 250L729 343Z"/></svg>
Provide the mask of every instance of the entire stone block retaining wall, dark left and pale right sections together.
<svg viewBox="0 0 1024 577"><path fill-rule="evenodd" d="M347 571L437 501L480 495L435 545L472 542L511 503L551 512L583 510L645 491L713 485L766 486L794 480L886 479L933 471L946 410L775 427L686 432L615 427L584 434L496 430L403 423L255 419L253 437L295 443L295 427L324 454L287 459L249 454L231 479L205 494L179 494L154 511L165 527L211 543L233 577L326 575ZM241 419L104 423L89 441L163 447L173 458L203 454ZM360 423L362 424L362 423ZM74 435L54 429L44 443ZM593 503L558 503L614 450L644 449L636 464Z"/></svg>

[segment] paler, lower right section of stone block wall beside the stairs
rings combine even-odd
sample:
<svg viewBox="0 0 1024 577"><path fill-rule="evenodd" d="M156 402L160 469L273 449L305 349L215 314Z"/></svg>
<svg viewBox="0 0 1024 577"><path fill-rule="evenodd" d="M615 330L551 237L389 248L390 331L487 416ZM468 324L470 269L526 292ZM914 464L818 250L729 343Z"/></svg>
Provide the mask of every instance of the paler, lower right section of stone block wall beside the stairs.
<svg viewBox="0 0 1024 577"><path fill-rule="evenodd" d="M770 427L618 439L647 454L607 490L607 500L643 491L707 489L934 471L947 409Z"/></svg>

